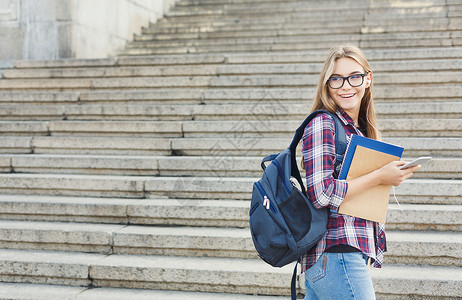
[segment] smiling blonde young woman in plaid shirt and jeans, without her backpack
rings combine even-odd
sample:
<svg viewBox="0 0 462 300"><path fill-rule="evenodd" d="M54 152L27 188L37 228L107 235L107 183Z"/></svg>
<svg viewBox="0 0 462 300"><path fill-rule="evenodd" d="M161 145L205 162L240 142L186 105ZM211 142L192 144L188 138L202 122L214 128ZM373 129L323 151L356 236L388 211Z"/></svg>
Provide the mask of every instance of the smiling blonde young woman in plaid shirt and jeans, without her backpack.
<svg viewBox="0 0 462 300"><path fill-rule="evenodd" d="M353 46L331 49L312 111L325 109L336 113L347 136L379 139L372 77L361 50ZM334 174L334 136L332 117L319 114L306 127L302 139L307 194L316 208L337 210L344 199L379 184L398 186L419 168L400 170L405 162L396 161L353 180L338 180ZM384 224L331 211L327 233L301 260L305 299L375 299L368 263L380 268L385 251Z"/></svg>

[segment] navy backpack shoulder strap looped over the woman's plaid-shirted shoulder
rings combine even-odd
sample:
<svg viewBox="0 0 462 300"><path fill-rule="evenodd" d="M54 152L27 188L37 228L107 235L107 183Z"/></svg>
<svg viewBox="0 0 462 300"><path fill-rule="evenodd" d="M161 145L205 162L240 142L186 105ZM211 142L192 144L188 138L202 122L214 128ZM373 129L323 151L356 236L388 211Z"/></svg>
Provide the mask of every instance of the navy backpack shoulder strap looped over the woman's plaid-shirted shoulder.
<svg viewBox="0 0 462 300"><path fill-rule="evenodd" d="M345 150L347 148L347 140L346 140L346 133L345 129L343 128L343 124L338 118L336 114L332 114L331 112L327 110L317 110L313 113L311 113L308 117L306 117L305 121L298 127L297 131L295 131L294 138L292 139L292 143L290 143L289 149L291 152L291 157L292 157L292 174L291 176L295 177L297 179L298 183L300 184L302 188L303 194L306 196L306 189L305 185L303 184L302 178L300 176L300 171L297 166L297 161L295 159L295 150L297 149L297 145L302 139L303 133L305 131L305 127L313 120L314 117L316 117L320 113L325 113L330 115L334 119L335 123L335 163L334 163L334 168L335 172L338 174L340 172L340 167L342 165L343 161L343 156L345 154Z"/></svg>

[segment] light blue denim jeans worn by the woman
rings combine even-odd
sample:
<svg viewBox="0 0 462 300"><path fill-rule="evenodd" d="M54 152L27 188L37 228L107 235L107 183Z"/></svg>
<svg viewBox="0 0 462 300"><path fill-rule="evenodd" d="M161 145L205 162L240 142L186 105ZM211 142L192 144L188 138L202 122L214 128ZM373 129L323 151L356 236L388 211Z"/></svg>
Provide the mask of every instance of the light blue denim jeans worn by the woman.
<svg viewBox="0 0 462 300"><path fill-rule="evenodd" d="M323 253L305 271L305 300L373 300L374 286L361 252Z"/></svg>

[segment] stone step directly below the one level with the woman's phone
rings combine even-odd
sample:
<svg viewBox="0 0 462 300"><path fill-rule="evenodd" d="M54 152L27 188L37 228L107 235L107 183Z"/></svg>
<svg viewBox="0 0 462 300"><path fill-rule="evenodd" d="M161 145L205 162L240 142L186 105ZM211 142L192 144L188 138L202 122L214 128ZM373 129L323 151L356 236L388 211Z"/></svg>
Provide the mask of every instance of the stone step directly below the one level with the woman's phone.
<svg viewBox="0 0 462 300"><path fill-rule="evenodd" d="M4 194L25 195L250 199L256 179L13 173L0 174L0 188ZM461 189L460 180L410 179L395 194L402 203L458 205Z"/></svg>

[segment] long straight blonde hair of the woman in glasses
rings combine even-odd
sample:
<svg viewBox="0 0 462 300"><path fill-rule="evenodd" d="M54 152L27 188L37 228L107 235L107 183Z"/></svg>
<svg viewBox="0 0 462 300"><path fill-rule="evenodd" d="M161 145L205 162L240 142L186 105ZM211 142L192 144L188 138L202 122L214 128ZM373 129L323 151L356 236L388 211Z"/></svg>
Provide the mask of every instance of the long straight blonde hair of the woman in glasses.
<svg viewBox="0 0 462 300"><path fill-rule="evenodd" d="M344 57L354 59L358 64L361 65L365 72L371 72L371 67L369 66L366 56L358 47L338 46L332 48L324 63L324 67L322 68L321 76L319 77L316 96L314 98L311 112L319 109L328 110L331 113L335 113L337 111L337 104L329 94L327 81L329 80L329 77L334 73L335 62L339 58ZM365 122L367 137L374 140L380 139L380 133L377 130L374 101L372 98L372 82L371 85L366 88L364 97L361 100L359 120L363 120ZM359 126L359 124L357 125Z"/></svg>

